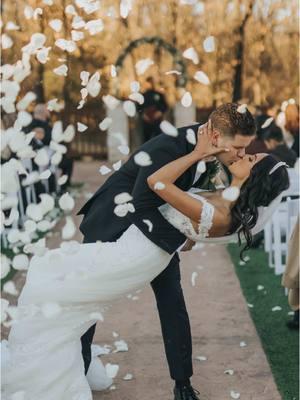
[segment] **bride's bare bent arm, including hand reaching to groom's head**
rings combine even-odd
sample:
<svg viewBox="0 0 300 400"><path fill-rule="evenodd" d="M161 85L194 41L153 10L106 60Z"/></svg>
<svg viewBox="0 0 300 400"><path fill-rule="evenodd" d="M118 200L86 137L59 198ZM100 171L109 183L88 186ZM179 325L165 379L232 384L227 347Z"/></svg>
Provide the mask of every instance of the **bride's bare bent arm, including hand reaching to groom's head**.
<svg viewBox="0 0 300 400"><path fill-rule="evenodd" d="M211 128L206 126L201 134L198 133L197 145L191 153L164 165L148 177L147 183L166 203L198 223L203 208L202 202L189 196L174 183L193 164L222 151L226 149L213 145ZM214 222L219 218L222 218L222 215L219 216L218 212L215 212Z"/></svg>

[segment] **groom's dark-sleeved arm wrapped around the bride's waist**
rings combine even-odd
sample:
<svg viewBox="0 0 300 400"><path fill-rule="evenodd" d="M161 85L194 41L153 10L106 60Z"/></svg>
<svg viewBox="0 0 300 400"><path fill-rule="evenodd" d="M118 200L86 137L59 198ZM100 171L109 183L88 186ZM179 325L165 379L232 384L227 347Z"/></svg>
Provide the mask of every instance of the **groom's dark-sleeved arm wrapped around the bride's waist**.
<svg viewBox="0 0 300 400"><path fill-rule="evenodd" d="M146 167L139 167L131 193L135 212L127 214L131 223L136 225L152 242L170 254L174 253L184 243L186 237L174 228L158 210L163 201L149 188L147 178L163 165L182 155L177 148L177 141L172 142L172 140L171 138L162 140L160 147L155 146L155 148L147 151L151 157L152 164ZM146 151L146 148L144 150ZM183 179L183 176L180 177L176 184L182 186ZM149 224L144 221L150 221L152 230L149 228Z"/></svg>

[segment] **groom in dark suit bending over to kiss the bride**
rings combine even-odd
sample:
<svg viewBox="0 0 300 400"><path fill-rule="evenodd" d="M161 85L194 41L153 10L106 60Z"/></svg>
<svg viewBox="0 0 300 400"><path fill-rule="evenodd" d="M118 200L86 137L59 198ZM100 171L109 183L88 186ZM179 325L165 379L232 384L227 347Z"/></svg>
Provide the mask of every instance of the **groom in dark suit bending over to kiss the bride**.
<svg viewBox="0 0 300 400"><path fill-rule="evenodd" d="M213 140L217 147L229 148L229 152L217 155L218 161L225 166L237 161L245 155L245 148L254 139L255 122L248 110L238 111L234 103L218 107L211 115ZM178 136L161 134L142 145L136 152L146 152L152 164L137 165L133 154L129 160L101 186L94 196L82 207L78 214L84 218L80 230L85 243L97 240L103 242L116 241L122 233L135 224L145 236L169 254L174 254L167 268L158 275L151 286L154 291L159 312L166 357L171 378L175 381L174 400L199 400L190 383L192 368L192 339L189 316L186 310L184 296L180 283L179 257L177 249L186 241L185 236L174 228L160 214L158 207L163 204L147 185L147 177L163 165L190 153L194 144L187 140L187 133L192 130L197 138L200 124L178 129ZM216 172L216 171L215 171ZM182 190L191 187L203 187L205 181L215 172L207 168L200 176L197 165L186 171L176 185ZM130 193L135 212L125 217L114 214L114 198L122 192ZM144 222L151 221L153 229ZM92 326L81 338L82 355L85 372L91 362L91 343L96 325Z"/></svg>

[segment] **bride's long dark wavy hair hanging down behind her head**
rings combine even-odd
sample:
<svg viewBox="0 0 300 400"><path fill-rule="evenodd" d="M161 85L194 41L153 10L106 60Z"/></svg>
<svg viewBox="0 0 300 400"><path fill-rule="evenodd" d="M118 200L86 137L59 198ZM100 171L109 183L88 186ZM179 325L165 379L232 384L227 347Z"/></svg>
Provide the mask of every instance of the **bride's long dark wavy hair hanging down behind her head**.
<svg viewBox="0 0 300 400"><path fill-rule="evenodd" d="M271 175L271 169L279 162L276 157L268 155L254 165L249 178L241 187L239 198L231 209L232 224L230 233L237 232L239 245L242 235L246 245L240 253L243 259L244 251L252 245L251 229L258 218L258 207L267 207L281 192L289 187L289 176L286 167L281 166Z"/></svg>

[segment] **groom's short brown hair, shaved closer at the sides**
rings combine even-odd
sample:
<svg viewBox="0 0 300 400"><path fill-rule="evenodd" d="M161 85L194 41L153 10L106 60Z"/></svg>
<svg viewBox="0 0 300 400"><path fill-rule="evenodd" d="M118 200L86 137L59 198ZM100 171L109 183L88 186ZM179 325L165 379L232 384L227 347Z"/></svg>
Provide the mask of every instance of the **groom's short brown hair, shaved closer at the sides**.
<svg viewBox="0 0 300 400"><path fill-rule="evenodd" d="M256 132L253 115L246 107L237 103L222 104L210 114L209 119L213 128L224 136L253 136Z"/></svg>

